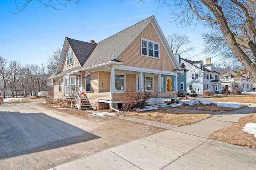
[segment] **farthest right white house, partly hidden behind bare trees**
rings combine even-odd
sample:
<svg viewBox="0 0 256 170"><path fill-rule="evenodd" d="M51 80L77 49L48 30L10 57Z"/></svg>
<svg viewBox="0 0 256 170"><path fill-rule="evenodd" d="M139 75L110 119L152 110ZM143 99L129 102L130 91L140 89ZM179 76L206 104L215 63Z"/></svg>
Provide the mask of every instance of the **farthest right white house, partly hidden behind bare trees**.
<svg viewBox="0 0 256 170"><path fill-rule="evenodd" d="M222 88L225 91L232 92L235 84L241 86L243 92L250 92L254 88L253 78L250 72L244 75L238 75L236 71L229 71L220 76Z"/></svg>

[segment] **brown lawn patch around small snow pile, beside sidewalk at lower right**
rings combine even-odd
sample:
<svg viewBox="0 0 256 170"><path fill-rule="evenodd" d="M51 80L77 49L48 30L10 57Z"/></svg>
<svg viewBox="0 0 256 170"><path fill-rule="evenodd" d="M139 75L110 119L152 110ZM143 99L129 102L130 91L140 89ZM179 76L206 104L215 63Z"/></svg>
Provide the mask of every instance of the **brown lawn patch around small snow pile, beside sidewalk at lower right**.
<svg viewBox="0 0 256 170"><path fill-rule="evenodd" d="M242 128L246 123L256 123L256 113L252 113L239 119L231 127L220 129L212 133L208 139L215 139L226 143L246 146L256 149L256 138L254 135L242 131Z"/></svg>

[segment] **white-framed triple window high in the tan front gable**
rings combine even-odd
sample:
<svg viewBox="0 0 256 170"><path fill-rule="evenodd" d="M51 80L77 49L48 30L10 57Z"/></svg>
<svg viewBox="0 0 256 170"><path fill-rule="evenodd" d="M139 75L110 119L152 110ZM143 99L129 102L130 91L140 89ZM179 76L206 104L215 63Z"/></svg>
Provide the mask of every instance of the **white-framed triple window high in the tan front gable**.
<svg viewBox="0 0 256 170"><path fill-rule="evenodd" d="M141 38L141 55L159 59L159 43Z"/></svg>

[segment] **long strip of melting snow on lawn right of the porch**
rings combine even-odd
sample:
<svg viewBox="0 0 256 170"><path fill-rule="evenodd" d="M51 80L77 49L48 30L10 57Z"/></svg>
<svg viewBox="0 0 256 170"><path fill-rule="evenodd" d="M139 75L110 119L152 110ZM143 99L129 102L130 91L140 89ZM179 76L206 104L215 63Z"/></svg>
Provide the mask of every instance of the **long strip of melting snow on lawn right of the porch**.
<svg viewBox="0 0 256 170"><path fill-rule="evenodd" d="M202 99L194 99L194 100L188 100L188 101L182 101L179 104L171 104L171 107L178 107L182 106L182 104L188 104L189 106L195 106L199 104L215 104L216 106L219 107L230 107L230 108L239 108L242 107L240 104L223 104L223 103L217 103L217 102L212 102L210 100L202 100Z"/></svg>

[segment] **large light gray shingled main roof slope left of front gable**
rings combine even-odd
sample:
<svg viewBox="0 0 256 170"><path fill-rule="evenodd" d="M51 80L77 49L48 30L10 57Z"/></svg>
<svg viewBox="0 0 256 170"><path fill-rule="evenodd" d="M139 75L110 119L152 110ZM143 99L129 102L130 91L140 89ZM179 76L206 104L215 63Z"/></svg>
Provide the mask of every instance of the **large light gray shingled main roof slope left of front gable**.
<svg viewBox="0 0 256 170"><path fill-rule="evenodd" d="M92 52L90 58L84 63L83 68L103 64L111 61L111 59L142 29L142 27L152 18L140 21L131 27L104 39L97 43L96 48Z"/></svg>

